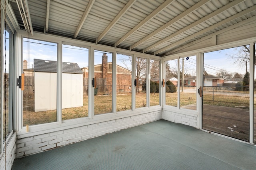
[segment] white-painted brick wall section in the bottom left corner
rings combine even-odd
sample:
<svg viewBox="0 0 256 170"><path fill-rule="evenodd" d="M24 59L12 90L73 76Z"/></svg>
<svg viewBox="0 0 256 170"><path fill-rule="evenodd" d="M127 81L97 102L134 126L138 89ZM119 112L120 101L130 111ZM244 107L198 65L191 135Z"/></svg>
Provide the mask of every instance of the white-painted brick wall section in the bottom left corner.
<svg viewBox="0 0 256 170"><path fill-rule="evenodd" d="M16 145L15 145L15 141L16 141L16 133L14 133L12 135L12 137L10 137L10 140L7 143L7 147L6 147L6 163L5 163L5 149L4 151L0 154L0 162L1 162L1 170L11 170L12 169L12 164L14 162L14 158L15 158L15 149L16 149ZM4 147L4 145L3 145Z"/></svg>

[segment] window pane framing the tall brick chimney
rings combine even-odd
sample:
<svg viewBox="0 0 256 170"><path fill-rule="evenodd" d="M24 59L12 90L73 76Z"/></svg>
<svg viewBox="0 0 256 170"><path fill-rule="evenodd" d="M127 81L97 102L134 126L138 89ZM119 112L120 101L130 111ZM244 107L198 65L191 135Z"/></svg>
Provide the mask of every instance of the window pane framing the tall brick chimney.
<svg viewBox="0 0 256 170"><path fill-rule="evenodd" d="M113 54L94 51L94 114L112 112Z"/></svg>

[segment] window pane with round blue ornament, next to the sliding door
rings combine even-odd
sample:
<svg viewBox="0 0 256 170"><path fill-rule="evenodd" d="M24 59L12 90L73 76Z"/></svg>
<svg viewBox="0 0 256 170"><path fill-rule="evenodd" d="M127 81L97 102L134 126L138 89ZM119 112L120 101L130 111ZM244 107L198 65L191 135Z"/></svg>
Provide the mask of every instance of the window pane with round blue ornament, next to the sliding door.
<svg viewBox="0 0 256 170"><path fill-rule="evenodd" d="M180 108L196 110L196 56L180 59Z"/></svg>

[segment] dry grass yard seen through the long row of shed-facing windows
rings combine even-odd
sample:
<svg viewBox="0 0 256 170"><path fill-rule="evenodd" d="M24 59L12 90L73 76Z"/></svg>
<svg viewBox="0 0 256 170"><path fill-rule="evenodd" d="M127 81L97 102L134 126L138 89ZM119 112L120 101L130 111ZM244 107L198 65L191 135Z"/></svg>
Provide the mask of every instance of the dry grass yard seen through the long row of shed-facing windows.
<svg viewBox="0 0 256 170"><path fill-rule="evenodd" d="M150 94L150 106L159 105L159 94ZM145 107L146 93L136 94L136 108ZM56 110L38 111L34 112L34 101L30 103L30 107L25 106L23 109L23 126L36 125L41 123L50 123L57 121ZM132 95L122 94L116 96L116 111L130 110L132 106ZM112 113L112 96L102 95L94 96L94 114ZM76 119L81 117L88 117L88 96L84 96L83 107L72 107L62 109L62 120Z"/></svg>

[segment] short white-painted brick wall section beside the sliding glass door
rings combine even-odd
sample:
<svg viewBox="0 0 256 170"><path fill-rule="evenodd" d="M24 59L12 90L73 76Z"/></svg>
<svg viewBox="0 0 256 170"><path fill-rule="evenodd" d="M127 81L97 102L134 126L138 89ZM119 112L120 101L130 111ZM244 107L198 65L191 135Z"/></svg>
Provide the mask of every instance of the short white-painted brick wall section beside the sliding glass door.
<svg viewBox="0 0 256 170"><path fill-rule="evenodd" d="M187 115L163 109L162 119L199 128L197 115Z"/></svg>

